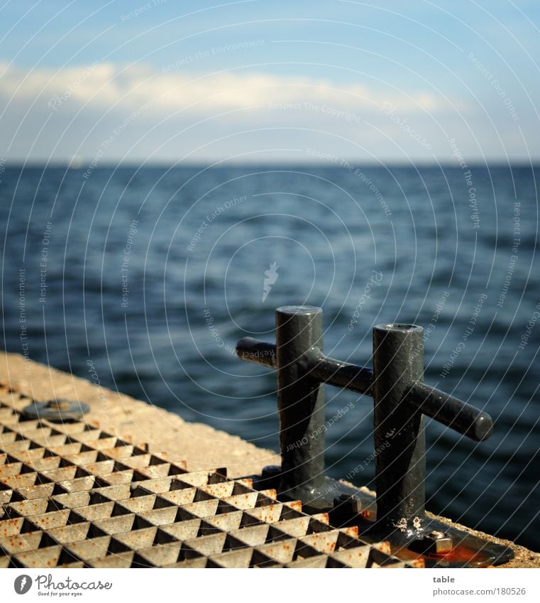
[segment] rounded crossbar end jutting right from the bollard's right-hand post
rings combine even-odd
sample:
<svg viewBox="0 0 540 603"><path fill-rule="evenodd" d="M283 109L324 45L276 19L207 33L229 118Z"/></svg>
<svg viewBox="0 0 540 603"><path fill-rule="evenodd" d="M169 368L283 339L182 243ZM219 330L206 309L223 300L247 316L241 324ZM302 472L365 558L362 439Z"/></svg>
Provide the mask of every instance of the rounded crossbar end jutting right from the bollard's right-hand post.
<svg viewBox="0 0 540 603"><path fill-rule="evenodd" d="M487 440L492 433L493 421L490 415L422 381L415 381L409 386L405 400L424 415L471 440L481 442Z"/></svg>

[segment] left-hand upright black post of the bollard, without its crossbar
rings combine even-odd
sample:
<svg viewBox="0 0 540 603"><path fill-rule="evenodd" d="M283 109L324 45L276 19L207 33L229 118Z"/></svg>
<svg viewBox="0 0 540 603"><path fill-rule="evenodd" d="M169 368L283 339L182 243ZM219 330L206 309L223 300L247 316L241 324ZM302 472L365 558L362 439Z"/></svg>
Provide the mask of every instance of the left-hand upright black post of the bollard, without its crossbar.
<svg viewBox="0 0 540 603"><path fill-rule="evenodd" d="M322 349L322 310L282 306L275 325L280 492L307 502L319 496L324 481L324 392L308 370L309 350Z"/></svg>

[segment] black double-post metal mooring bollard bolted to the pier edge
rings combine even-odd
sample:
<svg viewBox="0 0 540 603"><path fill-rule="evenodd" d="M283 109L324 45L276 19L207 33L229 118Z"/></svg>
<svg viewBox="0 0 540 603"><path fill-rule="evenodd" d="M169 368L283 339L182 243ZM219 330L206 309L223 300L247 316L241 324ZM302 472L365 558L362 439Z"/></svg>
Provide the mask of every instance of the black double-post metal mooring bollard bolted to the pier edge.
<svg viewBox="0 0 540 603"><path fill-rule="evenodd" d="M276 344L245 337L236 345L241 359L277 369L282 466L266 468L263 482L278 477L279 495L299 499L308 508L341 508L342 516L369 517L371 511L361 510L358 490L324 476L326 425L321 384L372 396L377 519L365 533L387 538L397 547L420 543L424 547L421 552L441 551L452 542L445 526L424 514L423 415L476 441L489 438L492 431L487 413L424 384L422 334L423 329L416 325L375 326L372 370L323 354L321 308L284 306L276 310ZM436 546L434 534L437 538L443 534ZM462 533L459 536L465 538ZM466 538L469 551L484 552L482 563L512 557L511 551L492 544L488 555L485 541Z"/></svg>

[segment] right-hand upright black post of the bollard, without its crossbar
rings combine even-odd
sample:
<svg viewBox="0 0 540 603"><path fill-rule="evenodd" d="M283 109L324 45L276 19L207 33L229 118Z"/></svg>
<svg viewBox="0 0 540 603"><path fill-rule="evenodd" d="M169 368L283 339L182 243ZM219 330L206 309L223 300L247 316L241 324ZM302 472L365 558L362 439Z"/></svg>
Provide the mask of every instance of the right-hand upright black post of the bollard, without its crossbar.
<svg viewBox="0 0 540 603"><path fill-rule="evenodd" d="M373 401L377 488L376 530L396 544L424 531L424 420L404 398L424 374L422 327L373 327Z"/></svg>

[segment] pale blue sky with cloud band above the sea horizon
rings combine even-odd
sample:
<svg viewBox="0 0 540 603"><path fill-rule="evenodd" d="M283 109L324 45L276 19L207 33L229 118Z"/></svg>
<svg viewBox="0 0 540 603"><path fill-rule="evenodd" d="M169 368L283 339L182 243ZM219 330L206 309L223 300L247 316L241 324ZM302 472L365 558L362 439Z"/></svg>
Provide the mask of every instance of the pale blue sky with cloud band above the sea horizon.
<svg viewBox="0 0 540 603"><path fill-rule="evenodd" d="M0 163L540 158L536 0L0 0Z"/></svg>

